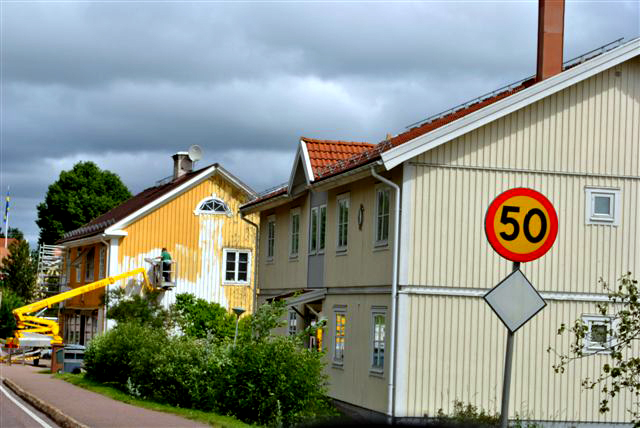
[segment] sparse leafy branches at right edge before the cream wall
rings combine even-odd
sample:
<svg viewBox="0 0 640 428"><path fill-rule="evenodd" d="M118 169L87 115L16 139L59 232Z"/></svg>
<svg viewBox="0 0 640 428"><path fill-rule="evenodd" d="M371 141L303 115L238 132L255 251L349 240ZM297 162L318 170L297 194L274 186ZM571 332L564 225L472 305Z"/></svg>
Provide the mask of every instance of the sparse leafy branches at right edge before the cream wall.
<svg viewBox="0 0 640 428"><path fill-rule="evenodd" d="M597 353L608 355L607 361L602 365L600 373L595 378L585 378L582 386L585 389L594 389L599 386L601 392L600 412L610 410L609 402L626 390L633 395L630 412L634 426L640 427L640 357L634 352L640 341L640 289L638 280L631 272L618 279L617 287L610 287L602 279L599 281L608 295L608 301L598 304L601 315L610 319L606 323L606 344ZM575 360L589 357L585 353L584 341L589 339L589 326L581 319L576 320L572 326L562 324L558 334L569 334L572 343L569 353L558 353L553 348L549 352L555 352L559 358L558 364L553 368L556 373L564 373L567 365ZM603 334L604 336L604 334ZM609 340L610 339L610 340Z"/></svg>

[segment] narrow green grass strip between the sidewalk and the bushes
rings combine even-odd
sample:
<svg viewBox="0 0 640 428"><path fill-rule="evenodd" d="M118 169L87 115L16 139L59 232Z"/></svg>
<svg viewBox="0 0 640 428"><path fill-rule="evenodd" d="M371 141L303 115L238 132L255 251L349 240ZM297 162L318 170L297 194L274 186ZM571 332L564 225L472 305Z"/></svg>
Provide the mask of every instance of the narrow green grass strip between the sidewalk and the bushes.
<svg viewBox="0 0 640 428"><path fill-rule="evenodd" d="M123 403L131 404L133 406L143 407L149 410L156 410L158 412L173 413L174 415L181 416L183 418L192 419L194 421L209 424L214 427L222 428L246 428L253 427L254 425L248 425L241 422L231 416L221 416L216 413L204 412L202 410L194 409L182 409L179 407L173 407L168 404L160 404L154 401L141 400L139 398L131 397L125 394L119 389L111 386L104 385L99 382L95 382L86 379L83 374L74 375L71 373L62 373L54 375L58 379L62 379L76 386L79 386L89 391L102 394L114 400L122 401Z"/></svg>

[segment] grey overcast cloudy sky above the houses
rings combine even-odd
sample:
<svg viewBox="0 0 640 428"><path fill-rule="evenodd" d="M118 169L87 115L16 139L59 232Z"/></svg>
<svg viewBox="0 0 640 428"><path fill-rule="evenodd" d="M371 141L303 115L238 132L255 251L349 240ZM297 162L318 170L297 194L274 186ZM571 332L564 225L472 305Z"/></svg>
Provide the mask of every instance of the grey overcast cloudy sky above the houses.
<svg viewBox="0 0 640 428"><path fill-rule="evenodd" d="M379 142L535 72L535 1L0 9L0 186L32 244L36 205L75 162L137 193L198 144L200 166L260 191L287 180L300 136ZM637 0L569 1L565 60L639 34Z"/></svg>

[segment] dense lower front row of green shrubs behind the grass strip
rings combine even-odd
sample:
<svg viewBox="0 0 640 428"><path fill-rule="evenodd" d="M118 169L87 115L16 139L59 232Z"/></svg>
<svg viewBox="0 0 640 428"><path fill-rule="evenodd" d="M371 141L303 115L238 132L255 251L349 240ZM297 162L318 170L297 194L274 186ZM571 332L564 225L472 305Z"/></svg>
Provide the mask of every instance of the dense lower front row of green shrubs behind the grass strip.
<svg viewBox="0 0 640 428"><path fill-rule="evenodd" d="M245 422L291 425L330 414L322 354L304 349L296 337L264 336L274 314L267 305L246 317L237 346L229 337L172 337L162 328L120 323L89 344L87 377L137 397Z"/></svg>

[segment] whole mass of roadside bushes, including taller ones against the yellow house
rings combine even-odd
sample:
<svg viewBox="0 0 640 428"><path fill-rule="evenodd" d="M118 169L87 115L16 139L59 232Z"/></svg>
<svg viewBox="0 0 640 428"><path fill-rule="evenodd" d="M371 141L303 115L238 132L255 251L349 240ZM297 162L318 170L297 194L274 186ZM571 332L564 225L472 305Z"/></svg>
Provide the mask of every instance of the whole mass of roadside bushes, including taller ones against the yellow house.
<svg viewBox="0 0 640 428"><path fill-rule="evenodd" d="M235 317L219 305L182 294L164 311L155 298L112 296L109 316L118 325L90 343L87 381L250 424L291 426L335 414L322 354L304 348L300 337L270 334L282 303L244 317L234 346Z"/></svg>

